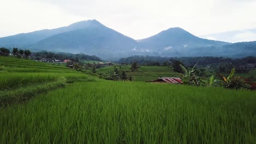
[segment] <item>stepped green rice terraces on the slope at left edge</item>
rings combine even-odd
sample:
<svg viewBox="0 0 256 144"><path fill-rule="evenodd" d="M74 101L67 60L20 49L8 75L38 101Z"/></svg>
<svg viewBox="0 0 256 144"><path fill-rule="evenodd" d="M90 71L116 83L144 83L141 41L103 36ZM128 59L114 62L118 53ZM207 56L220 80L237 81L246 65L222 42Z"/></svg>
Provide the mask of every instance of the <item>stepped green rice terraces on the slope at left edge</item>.
<svg viewBox="0 0 256 144"><path fill-rule="evenodd" d="M30 99L37 93L63 87L66 83L92 79L64 66L0 57L0 106Z"/></svg>

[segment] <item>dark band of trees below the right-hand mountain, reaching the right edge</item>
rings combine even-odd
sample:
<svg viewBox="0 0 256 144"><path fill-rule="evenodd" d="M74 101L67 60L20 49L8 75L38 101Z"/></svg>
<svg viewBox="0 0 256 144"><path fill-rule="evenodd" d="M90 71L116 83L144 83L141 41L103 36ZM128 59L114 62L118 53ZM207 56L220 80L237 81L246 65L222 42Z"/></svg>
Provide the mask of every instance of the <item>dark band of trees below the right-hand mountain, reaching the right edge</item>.
<svg viewBox="0 0 256 144"><path fill-rule="evenodd" d="M187 65L193 67L205 68L209 67L221 73L229 73L232 68L236 68L237 73L248 73L250 69L254 69L256 65L256 57L249 56L243 58L226 58L226 57L154 57L154 56L131 56L119 59L119 64L129 64L137 62L145 66L171 66L176 64ZM253 64L253 65L249 65ZM177 71L179 72L179 70Z"/></svg>

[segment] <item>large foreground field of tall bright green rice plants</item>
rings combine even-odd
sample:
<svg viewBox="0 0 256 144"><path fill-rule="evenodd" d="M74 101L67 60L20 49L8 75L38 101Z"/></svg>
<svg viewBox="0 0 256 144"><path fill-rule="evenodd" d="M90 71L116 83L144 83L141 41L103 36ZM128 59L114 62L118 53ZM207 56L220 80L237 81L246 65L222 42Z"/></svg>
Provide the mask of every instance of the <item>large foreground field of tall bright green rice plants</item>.
<svg viewBox="0 0 256 144"><path fill-rule="evenodd" d="M74 83L0 110L0 143L254 143L251 91Z"/></svg>

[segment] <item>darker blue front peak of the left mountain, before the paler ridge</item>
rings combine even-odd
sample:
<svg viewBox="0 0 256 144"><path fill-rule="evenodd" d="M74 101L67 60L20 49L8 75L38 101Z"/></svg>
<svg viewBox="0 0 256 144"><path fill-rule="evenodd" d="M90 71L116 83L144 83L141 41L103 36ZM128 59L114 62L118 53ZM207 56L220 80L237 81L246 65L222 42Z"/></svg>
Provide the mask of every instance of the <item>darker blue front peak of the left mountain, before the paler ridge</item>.
<svg viewBox="0 0 256 144"><path fill-rule="evenodd" d="M137 41L113 29L97 23L74 31L55 34L32 45L34 49L86 53L102 58L124 57L135 54L131 51Z"/></svg>

